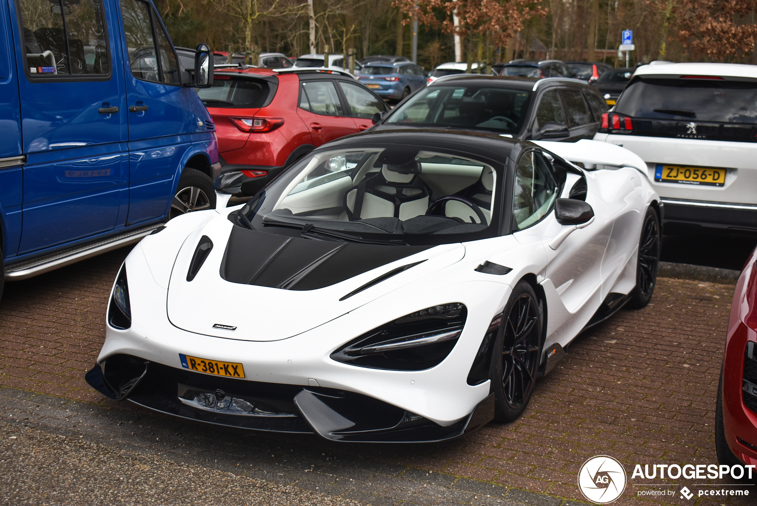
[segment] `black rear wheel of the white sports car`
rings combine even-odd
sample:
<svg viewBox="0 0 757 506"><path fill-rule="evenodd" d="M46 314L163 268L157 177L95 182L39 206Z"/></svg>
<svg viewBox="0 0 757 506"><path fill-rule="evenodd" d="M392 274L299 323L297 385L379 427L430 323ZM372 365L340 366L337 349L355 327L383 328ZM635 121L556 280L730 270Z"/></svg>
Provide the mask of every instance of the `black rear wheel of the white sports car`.
<svg viewBox="0 0 757 506"><path fill-rule="evenodd" d="M652 207L646 210L639 240L639 257L636 267L636 287L631 292L628 306L643 308L652 300L657 283L657 266L660 259L660 227L657 212Z"/></svg>

